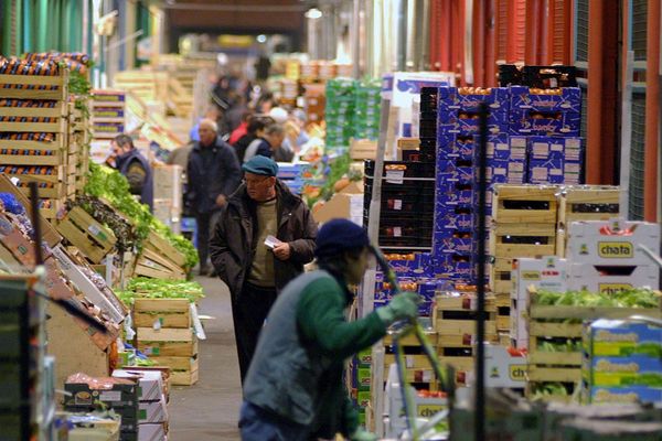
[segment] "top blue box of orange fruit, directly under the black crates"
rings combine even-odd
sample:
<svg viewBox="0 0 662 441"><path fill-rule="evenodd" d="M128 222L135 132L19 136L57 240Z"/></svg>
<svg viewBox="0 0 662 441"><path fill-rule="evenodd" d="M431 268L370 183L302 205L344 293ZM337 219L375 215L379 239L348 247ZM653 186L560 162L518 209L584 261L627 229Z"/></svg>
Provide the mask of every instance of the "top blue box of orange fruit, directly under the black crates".
<svg viewBox="0 0 662 441"><path fill-rule="evenodd" d="M536 111L581 112L581 89L564 87L553 90L530 89L526 86L510 86L510 109Z"/></svg>

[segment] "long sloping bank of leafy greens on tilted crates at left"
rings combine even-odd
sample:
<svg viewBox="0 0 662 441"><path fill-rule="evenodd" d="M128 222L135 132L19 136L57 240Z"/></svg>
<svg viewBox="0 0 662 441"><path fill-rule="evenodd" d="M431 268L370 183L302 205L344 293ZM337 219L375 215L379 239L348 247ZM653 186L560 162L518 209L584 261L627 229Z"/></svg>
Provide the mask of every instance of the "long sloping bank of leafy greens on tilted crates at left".
<svg viewBox="0 0 662 441"><path fill-rule="evenodd" d="M149 212L149 207L139 203L131 195L129 183L118 171L90 163L85 194L106 200L113 208L129 217L135 223L135 235L139 248L149 233L154 230L164 236L173 247L186 257L186 268L192 268L197 262L197 252L193 244L184 237L175 235L163 223L153 217Z"/></svg>

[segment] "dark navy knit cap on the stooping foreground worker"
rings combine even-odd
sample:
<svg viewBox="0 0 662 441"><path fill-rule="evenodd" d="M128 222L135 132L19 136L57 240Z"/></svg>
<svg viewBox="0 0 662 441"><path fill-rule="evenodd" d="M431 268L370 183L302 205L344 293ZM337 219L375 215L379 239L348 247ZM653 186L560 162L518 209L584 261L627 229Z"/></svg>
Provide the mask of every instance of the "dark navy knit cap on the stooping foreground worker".
<svg viewBox="0 0 662 441"><path fill-rule="evenodd" d="M338 256L345 249L370 245L365 228L348 219L331 219L318 232L314 255L317 257Z"/></svg>

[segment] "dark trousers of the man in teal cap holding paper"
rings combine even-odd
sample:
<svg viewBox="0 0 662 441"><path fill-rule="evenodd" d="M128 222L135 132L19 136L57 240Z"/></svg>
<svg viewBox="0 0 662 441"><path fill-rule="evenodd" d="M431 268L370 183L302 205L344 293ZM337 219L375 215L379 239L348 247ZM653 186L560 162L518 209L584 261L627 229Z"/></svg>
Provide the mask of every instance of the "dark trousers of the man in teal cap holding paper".
<svg viewBox="0 0 662 441"><path fill-rule="evenodd" d="M248 367L257 347L259 332L274 302L276 302L276 290L274 288L256 287L247 282L244 283L244 289L238 295L233 295L232 318L237 342L237 355L239 356L242 385L246 374L248 374Z"/></svg>

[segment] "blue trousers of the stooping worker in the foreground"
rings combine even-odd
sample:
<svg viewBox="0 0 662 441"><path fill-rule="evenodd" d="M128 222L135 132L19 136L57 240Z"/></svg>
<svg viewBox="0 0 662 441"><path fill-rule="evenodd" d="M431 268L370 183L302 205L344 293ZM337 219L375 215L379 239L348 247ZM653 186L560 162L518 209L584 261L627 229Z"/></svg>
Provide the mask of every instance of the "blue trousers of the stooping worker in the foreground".
<svg viewBox="0 0 662 441"><path fill-rule="evenodd" d="M242 441L308 441L306 426L288 421L248 401L242 405L239 418Z"/></svg>

